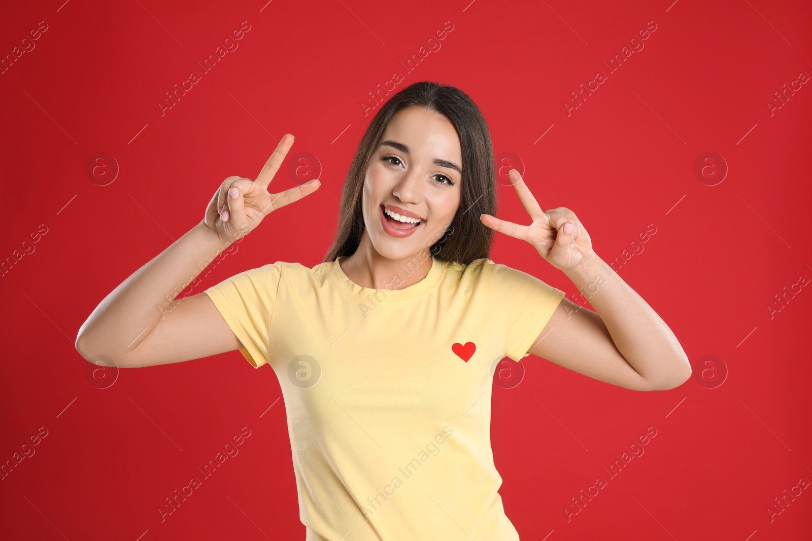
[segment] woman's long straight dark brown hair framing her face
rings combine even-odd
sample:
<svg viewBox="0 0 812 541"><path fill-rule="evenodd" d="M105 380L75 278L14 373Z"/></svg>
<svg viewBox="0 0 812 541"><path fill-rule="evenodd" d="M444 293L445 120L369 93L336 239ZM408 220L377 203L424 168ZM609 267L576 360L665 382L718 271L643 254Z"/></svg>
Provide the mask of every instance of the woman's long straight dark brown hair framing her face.
<svg viewBox="0 0 812 541"><path fill-rule="evenodd" d="M395 113L409 106L425 107L442 114L456 128L462 151L462 193L460 207L446 234L430 251L439 260L469 264L490 256L494 230L479 220L482 213L496 215L496 173L490 131L477 104L465 92L451 85L421 81L391 97L369 123L341 191L339 225L324 262L339 255L352 255L364 233L361 192L369 161L381 144Z"/></svg>

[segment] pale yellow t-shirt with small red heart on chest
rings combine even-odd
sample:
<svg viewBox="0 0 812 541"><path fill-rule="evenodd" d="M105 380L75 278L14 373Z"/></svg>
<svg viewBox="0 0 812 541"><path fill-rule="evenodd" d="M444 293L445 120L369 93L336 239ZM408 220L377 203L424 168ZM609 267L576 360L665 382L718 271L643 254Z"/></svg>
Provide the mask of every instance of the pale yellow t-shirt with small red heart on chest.
<svg viewBox="0 0 812 541"><path fill-rule="evenodd" d="M338 261L278 261L205 290L248 362L279 378L307 541L519 539L490 448L493 375L564 292L431 258L404 289L414 266L373 290Z"/></svg>

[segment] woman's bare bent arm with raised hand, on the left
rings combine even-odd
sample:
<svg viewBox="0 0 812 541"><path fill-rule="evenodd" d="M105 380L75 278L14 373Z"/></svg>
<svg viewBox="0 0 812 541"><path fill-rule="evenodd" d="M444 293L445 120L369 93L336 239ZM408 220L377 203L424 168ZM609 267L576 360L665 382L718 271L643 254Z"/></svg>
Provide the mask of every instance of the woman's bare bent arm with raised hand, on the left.
<svg viewBox="0 0 812 541"><path fill-rule="evenodd" d="M292 144L293 136L285 135L255 181L226 178L214 192L200 223L99 303L76 337L76 350L84 359L118 367L144 367L244 347L208 295L175 297L264 217L317 190L319 182L310 181L278 194L267 191Z"/></svg>

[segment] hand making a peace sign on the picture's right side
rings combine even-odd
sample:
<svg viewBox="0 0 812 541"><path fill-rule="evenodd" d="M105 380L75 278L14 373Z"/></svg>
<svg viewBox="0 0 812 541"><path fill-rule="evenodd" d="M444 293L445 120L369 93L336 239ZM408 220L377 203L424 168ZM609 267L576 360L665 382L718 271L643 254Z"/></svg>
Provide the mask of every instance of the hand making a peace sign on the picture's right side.
<svg viewBox="0 0 812 541"><path fill-rule="evenodd" d="M482 214L480 220L483 224L499 233L527 241L552 266L565 273L593 255L590 235L575 213L566 207L551 208L546 213L542 212L542 208L538 206L536 198L530 193L519 172L515 169L510 170L508 178L516 188L525 210L533 218L533 223L518 225L512 221L499 220L490 214ZM572 225L569 232L568 227L565 227L567 224Z"/></svg>

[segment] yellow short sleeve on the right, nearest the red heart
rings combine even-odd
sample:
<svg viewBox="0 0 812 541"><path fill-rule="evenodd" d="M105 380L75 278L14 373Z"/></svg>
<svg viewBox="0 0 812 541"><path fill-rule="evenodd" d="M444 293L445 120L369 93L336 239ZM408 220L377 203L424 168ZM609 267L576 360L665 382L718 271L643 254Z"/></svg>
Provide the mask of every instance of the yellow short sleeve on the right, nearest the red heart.
<svg viewBox="0 0 812 541"><path fill-rule="evenodd" d="M505 356L518 363L529 355L528 350L564 298L564 291L507 265L494 263L488 267L505 322Z"/></svg>

